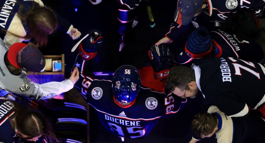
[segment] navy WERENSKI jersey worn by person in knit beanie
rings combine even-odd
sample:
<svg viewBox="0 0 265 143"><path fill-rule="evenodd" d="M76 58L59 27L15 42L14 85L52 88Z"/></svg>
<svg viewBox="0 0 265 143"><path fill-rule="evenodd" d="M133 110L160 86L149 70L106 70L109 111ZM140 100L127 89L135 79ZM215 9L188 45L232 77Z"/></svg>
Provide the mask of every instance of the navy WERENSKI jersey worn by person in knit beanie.
<svg viewBox="0 0 265 143"><path fill-rule="evenodd" d="M246 61L258 62L263 60L264 53L261 46L254 41L239 42L232 34L228 34L220 27L210 33L213 43L216 45L211 57L235 57ZM183 47L184 49L184 47ZM196 59L190 58L182 51L174 56L174 61L178 64L194 62Z"/></svg>

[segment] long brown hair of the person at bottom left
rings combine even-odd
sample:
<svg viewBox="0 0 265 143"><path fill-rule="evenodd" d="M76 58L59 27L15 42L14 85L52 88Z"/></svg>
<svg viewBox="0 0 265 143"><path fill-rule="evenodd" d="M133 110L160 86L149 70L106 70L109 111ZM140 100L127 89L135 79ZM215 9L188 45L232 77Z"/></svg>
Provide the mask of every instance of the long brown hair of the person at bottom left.
<svg viewBox="0 0 265 143"><path fill-rule="evenodd" d="M29 136L28 138L22 139L31 139L39 135L43 136L47 142L52 143L54 141L60 142L52 132L51 124L48 120L41 114L39 111L32 108L22 107L21 105L14 103L14 115L13 120L9 120L13 129L17 129L24 135ZM17 133L18 134L18 133Z"/></svg>

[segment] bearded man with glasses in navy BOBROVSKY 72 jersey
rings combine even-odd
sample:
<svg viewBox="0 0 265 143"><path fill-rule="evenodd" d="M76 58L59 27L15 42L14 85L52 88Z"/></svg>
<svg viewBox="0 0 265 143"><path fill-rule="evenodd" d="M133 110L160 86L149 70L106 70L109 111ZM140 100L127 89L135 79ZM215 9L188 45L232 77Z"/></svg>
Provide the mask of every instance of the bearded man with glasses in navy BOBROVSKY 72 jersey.
<svg viewBox="0 0 265 143"><path fill-rule="evenodd" d="M205 58L192 69L172 67L165 88L180 97L195 98L200 90L211 105L227 116L245 116L250 109L265 116L265 68L233 57Z"/></svg>

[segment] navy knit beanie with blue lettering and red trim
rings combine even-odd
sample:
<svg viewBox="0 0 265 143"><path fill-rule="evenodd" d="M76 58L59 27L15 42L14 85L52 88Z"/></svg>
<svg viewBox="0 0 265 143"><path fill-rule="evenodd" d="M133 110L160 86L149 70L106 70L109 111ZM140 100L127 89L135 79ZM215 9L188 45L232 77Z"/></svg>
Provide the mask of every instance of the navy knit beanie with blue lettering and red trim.
<svg viewBox="0 0 265 143"><path fill-rule="evenodd" d="M201 58L212 51L213 45L205 27L194 30L185 44L185 53L191 58Z"/></svg>

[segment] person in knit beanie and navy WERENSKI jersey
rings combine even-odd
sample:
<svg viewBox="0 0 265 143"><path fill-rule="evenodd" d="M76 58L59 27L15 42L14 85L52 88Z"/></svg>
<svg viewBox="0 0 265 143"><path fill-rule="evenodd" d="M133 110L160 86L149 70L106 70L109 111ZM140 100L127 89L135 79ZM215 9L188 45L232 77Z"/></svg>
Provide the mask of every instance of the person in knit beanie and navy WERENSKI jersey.
<svg viewBox="0 0 265 143"><path fill-rule="evenodd" d="M234 35L224 32L220 27L208 34L208 30L200 26L188 37L185 50L174 56L174 62L187 64L203 57L235 57L260 63L264 52L254 41L240 43Z"/></svg>

